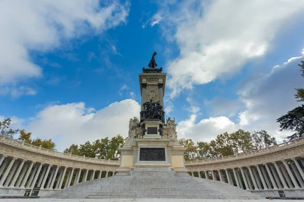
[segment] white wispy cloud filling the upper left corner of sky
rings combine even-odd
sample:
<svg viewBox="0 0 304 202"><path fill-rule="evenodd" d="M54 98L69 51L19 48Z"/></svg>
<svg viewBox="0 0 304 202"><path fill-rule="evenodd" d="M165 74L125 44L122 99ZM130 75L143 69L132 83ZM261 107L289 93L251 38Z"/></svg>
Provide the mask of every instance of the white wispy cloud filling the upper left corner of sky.
<svg viewBox="0 0 304 202"><path fill-rule="evenodd" d="M41 77L29 52L46 52L63 41L84 34L99 34L126 23L130 5L116 1L1 1L0 85Z"/></svg>

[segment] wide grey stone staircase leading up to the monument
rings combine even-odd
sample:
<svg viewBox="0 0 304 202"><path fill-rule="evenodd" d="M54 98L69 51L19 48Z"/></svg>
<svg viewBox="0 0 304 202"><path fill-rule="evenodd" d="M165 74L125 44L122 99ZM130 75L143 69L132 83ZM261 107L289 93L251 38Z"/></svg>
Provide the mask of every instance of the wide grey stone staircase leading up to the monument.
<svg viewBox="0 0 304 202"><path fill-rule="evenodd" d="M45 198L228 198L262 199L227 183L173 171L132 171L54 191Z"/></svg>

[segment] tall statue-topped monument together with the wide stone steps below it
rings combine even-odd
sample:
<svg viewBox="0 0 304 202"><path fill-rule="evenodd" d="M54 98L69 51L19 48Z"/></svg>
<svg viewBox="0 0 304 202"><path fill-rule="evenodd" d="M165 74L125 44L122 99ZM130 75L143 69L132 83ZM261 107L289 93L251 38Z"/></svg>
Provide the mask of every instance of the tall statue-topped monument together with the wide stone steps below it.
<svg viewBox="0 0 304 202"><path fill-rule="evenodd" d="M120 167L111 177L76 183L44 196L48 198L261 198L231 184L194 178L185 167L175 118L165 122L166 73L157 68L154 52L139 73L140 119L129 120ZM86 172L87 175L87 172ZM80 175L78 175L80 176ZM86 179L86 176L85 178ZM78 181L78 180L77 180Z"/></svg>

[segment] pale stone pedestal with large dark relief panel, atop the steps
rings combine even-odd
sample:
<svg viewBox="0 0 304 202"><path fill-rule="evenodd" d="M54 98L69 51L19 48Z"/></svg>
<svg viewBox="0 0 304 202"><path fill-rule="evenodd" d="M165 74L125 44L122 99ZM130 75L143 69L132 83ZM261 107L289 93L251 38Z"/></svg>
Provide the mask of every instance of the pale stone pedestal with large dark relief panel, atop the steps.
<svg viewBox="0 0 304 202"><path fill-rule="evenodd" d="M135 138L119 149L122 156L118 175L130 173L137 168L168 168L175 173L188 172L183 156L184 147L161 138L159 134L145 136Z"/></svg>

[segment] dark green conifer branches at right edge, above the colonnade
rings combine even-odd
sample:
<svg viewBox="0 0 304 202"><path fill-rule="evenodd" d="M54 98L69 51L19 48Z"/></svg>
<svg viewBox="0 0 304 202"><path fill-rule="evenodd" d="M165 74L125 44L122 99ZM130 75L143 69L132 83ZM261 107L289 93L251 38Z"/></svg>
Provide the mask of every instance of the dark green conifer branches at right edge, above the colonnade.
<svg viewBox="0 0 304 202"><path fill-rule="evenodd" d="M304 105L296 107L289 111L286 115L277 119L280 123L280 131L291 130L293 133L287 136L289 140L301 137L304 133Z"/></svg>

